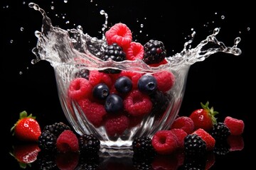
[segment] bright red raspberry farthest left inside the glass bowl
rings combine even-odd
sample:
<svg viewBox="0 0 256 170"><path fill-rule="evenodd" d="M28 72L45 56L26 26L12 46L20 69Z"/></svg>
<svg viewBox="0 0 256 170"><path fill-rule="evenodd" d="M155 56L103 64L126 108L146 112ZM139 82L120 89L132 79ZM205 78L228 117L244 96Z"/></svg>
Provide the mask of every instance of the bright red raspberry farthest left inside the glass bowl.
<svg viewBox="0 0 256 170"><path fill-rule="evenodd" d="M76 78L70 82L68 89L68 96L73 100L79 100L80 98L87 98L92 94L92 85L87 79Z"/></svg>

